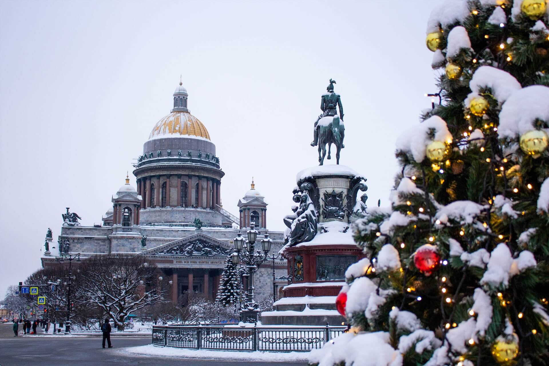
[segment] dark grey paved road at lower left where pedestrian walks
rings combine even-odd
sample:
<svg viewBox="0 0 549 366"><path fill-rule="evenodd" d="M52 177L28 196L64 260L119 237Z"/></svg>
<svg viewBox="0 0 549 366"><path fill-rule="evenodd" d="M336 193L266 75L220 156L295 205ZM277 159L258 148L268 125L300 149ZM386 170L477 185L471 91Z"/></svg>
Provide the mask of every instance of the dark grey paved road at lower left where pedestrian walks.
<svg viewBox="0 0 549 366"><path fill-rule="evenodd" d="M147 337L111 337L113 348L101 348L100 337L59 339L26 336L14 337L13 324L0 325L0 366L97 366L97 365L155 365L155 366L297 366L303 362L238 362L208 361L172 357L136 357L116 352L117 348L150 344ZM8 336L9 332L11 334Z"/></svg>

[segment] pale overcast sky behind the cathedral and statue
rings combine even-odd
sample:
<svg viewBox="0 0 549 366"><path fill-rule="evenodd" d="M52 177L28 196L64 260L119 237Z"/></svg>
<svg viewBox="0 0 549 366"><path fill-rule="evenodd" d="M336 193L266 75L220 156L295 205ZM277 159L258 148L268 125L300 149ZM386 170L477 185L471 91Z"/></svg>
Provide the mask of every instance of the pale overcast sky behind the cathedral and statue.
<svg viewBox="0 0 549 366"><path fill-rule="evenodd" d="M369 206L386 204L395 140L436 91L437 2L0 2L0 298L40 268L65 207L101 221L180 74L226 173L225 209L238 214L254 176L269 228L284 228L296 173L317 164L330 78L341 164L368 178Z"/></svg>

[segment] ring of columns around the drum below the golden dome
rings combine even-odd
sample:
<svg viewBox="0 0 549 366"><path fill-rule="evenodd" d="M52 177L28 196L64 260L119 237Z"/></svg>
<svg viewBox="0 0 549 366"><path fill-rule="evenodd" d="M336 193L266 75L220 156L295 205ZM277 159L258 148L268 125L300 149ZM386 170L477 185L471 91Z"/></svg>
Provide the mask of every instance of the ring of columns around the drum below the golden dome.
<svg viewBox="0 0 549 366"><path fill-rule="evenodd" d="M215 209L216 205L221 206L221 181L219 179L211 178L201 175L182 175L182 174L163 174L163 175L151 175L145 176L137 180L137 192L142 197L141 209L150 208L151 205L151 187L154 186L154 207L160 207L160 196L162 195L162 187L160 186L160 178L165 176L166 180L166 202L164 206L170 206L171 202L171 190L172 183L176 181L177 184L177 207L202 207ZM177 177L177 180L174 178ZM187 205L183 206L181 202L181 182L187 183ZM193 190L196 183L198 185L198 202L195 202L195 196ZM203 198L203 186L206 189L206 200Z"/></svg>

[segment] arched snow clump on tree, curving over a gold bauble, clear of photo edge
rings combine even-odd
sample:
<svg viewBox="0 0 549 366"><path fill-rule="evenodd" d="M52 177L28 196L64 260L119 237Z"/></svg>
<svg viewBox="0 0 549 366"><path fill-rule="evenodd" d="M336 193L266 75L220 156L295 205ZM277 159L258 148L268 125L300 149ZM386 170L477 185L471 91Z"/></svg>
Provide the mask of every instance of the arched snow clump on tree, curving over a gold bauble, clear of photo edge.
<svg viewBox="0 0 549 366"><path fill-rule="evenodd" d="M480 66L469 81L471 93L467 96L463 104L468 107L471 99L478 97L480 88L490 88L492 95L498 102L503 103L521 86L513 75L492 66Z"/></svg>

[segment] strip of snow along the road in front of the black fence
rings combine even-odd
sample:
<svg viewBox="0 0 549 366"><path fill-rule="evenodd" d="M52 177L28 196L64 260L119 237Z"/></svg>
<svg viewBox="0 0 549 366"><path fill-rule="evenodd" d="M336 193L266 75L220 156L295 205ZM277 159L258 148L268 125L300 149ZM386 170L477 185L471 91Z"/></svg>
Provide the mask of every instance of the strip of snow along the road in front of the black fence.
<svg viewBox="0 0 549 366"><path fill-rule="evenodd" d="M125 356L160 356L190 359L238 360L238 361L307 361L308 352L243 352L188 350L186 348L157 347L153 345L124 347L116 350Z"/></svg>

